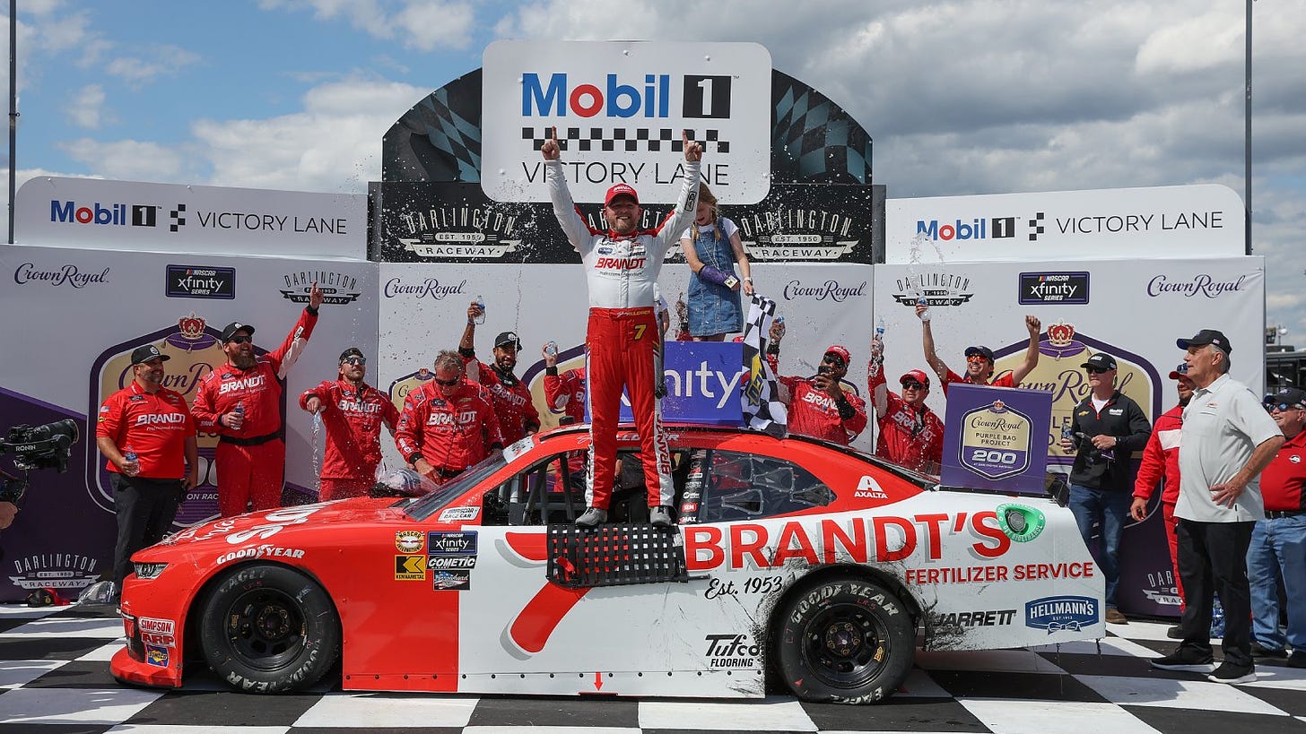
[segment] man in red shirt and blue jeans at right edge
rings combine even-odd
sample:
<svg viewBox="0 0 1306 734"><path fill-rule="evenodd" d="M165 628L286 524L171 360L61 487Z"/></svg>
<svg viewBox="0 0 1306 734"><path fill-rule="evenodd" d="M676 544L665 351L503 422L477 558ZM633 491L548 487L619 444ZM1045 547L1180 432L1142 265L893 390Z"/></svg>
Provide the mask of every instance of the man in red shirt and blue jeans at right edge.
<svg viewBox="0 0 1306 734"><path fill-rule="evenodd" d="M1247 549L1251 654L1286 657L1289 667L1306 667L1306 391L1284 388L1266 404L1286 440L1260 474L1266 519L1256 521ZM1280 609L1288 616L1286 633L1279 627Z"/></svg>

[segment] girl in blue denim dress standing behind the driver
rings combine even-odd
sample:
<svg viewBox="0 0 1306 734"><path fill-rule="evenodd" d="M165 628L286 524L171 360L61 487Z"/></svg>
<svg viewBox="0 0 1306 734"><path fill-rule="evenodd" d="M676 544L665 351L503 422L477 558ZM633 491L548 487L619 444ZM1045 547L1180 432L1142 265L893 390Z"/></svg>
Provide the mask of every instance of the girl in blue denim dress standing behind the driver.
<svg viewBox="0 0 1306 734"><path fill-rule="evenodd" d="M695 341L722 341L743 330L741 281L734 264L743 273L743 293L752 295L748 256L739 240L739 229L717 210L717 197L707 184L699 184L699 209L693 225L680 235L684 260L693 270L690 278L690 336Z"/></svg>

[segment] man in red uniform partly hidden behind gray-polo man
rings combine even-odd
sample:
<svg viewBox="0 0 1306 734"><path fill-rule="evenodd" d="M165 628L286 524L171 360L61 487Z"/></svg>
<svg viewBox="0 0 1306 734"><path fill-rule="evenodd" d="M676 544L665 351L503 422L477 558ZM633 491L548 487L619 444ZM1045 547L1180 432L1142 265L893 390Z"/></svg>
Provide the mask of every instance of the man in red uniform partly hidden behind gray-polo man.
<svg viewBox="0 0 1306 734"><path fill-rule="evenodd" d="M1179 594L1179 610L1183 610L1183 584L1179 581L1179 541L1175 535L1178 520L1174 517L1174 504L1179 502L1179 434L1183 428L1183 409L1192 398L1195 385L1188 379L1188 364L1181 363L1170 371L1170 379L1179 391L1179 404L1162 413L1152 426L1152 438L1143 448L1143 464L1134 479L1134 503L1130 516L1138 522L1147 520L1147 502L1161 488L1161 517L1165 520L1165 535L1170 541L1170 563L1174 566L1174 588ZM1164 479L1164 482L1162 482ZM1264 479L1262 479L1264 481ZM1179 626L1170 628L1171 639L1181 639Z"/></svg>

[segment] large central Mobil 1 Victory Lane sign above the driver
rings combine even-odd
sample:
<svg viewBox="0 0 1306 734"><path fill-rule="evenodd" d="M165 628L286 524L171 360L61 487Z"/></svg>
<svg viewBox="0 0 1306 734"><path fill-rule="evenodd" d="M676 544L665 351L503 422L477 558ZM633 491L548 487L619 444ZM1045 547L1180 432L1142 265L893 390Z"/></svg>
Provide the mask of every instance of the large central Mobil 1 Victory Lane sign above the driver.
<svg viewBox="0 0 1306 734"><path fill-rule="evenodd" d="M496 201L549 201L541 146L558 128L577 202L616 183L675 201L682 131L722 204L771 187L771 52L756 43L499 40L482 60L481 185Z"/></svg>

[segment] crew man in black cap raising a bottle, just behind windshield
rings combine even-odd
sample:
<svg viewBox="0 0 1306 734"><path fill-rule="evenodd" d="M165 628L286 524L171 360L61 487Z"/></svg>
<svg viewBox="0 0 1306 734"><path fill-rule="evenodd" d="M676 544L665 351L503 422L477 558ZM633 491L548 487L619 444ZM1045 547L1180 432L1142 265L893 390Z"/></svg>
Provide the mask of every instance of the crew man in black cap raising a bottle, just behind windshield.
<svg viewBox="0 0 1306 734"><path fill-rule="evenodd" d="M495 415L499 417L499 432L503 434L504 444L512 444L539 430L539 411L530 397L530 388L512 374L517 366L517 350L521 349L521 340L516 333L502 332L494 338L494 364L477 359L475 320L483 315L481 304L471 302L458 354L466 363L468 377L490 391Z"/></svg>

